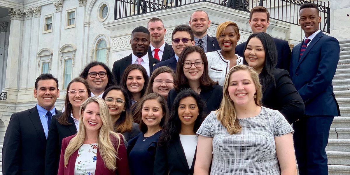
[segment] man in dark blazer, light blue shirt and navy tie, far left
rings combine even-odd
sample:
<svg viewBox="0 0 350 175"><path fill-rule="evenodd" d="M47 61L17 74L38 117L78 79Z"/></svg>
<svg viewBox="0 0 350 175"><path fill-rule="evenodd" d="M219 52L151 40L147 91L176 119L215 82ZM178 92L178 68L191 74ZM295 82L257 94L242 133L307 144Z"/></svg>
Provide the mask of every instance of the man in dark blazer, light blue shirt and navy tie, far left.
<svg viewBox="0 0 350 175"><path fill-rule="evenodd" d="M32 109L12 114L2 148L2 172L6 175L44 174L45 149L52 116L59 97L58 80L50 73L35 82Z"/></svg>

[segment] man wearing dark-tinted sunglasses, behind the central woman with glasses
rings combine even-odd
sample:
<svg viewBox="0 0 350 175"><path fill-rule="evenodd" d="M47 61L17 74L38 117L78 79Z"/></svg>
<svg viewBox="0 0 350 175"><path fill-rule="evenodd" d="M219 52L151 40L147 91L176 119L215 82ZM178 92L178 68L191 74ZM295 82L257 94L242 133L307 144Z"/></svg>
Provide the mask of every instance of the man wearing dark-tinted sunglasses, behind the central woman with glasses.
<svg viewBox="0 0 350 175"><path fill-rule="evenodd" d="M169 66L176 72L177 60L184 48L189 45L195 45L194 35L192 29L188 25L180 25L175 27L172 34L172 45L175 55L166 60L156 64L153 70L159 68L160 66Z"/></svg>

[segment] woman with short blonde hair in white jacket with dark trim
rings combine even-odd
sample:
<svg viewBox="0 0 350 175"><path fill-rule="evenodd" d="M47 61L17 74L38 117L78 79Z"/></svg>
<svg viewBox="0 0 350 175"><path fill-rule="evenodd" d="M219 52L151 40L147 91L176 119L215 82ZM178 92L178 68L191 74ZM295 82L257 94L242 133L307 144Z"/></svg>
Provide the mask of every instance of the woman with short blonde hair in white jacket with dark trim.
<svg viewBox="0 0 350 175"><path fill-rule="evenodd" d="M216 30L216 38L221 50L207 52L209 76L212 80L224 85L224 79L229 70L239 64L243 64L243 58L235 54L239 41L239 29L236 23L226 21L221 23Z"/></svg>

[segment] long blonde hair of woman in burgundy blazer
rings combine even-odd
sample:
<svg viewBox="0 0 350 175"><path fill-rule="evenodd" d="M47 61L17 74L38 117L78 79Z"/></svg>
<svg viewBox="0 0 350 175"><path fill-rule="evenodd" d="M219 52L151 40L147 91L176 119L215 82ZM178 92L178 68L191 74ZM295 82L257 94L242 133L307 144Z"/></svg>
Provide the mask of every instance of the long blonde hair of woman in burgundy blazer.
<svg viewBox="0 0 350 175"><path fill-rule="evenodd" d="M100 97L90 97L80 106L80 119L79 119L79 131L75 137L70 140L64 153L64 167L67 168L68 160L70 156L82 146L85 139L85 125L83 122L83 112L89 103L97 103L100 110L100 118L102 120L102 126L99 129L99 134L97 136L98 151L105 163L105 166L109 170L115 170L116 162L118 159L118 149L120 146L120 139L123 139L121 134L115 133L112 130L111 116L107 104ZM113 143L111 136L117 138L117 142ZM122 137L122 138L120 138ZM117 151L114 145L117 146Z"/></svg>

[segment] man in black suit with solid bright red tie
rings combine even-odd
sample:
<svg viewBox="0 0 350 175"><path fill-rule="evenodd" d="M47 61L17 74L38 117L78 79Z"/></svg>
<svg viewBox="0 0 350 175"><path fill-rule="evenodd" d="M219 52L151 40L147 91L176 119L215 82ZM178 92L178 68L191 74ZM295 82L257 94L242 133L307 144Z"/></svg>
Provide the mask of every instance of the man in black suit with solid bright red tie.
<svg viewBox="0 0 350 175"><path fill-rule="evenodd" d="M151 45L148 47L148 54L159 61L172 58L175 53L172 45L164 41L167 29L165 29L163 21L159 18L152 18L147 23L147 29L151 33Z"/></svg>

